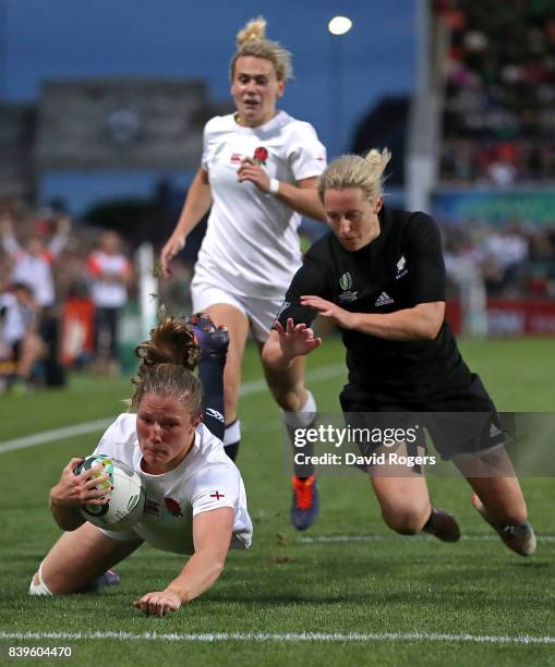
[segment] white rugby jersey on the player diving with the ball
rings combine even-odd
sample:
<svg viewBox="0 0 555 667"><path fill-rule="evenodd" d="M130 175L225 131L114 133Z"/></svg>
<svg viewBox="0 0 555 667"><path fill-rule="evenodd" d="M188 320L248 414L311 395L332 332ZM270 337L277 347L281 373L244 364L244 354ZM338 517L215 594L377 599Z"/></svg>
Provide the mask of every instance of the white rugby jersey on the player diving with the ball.
<svg viewBox="0 0 555 667"><path fill-rule="evenodd" d="M193 517L219 507L234 511L231 548L248 548L252 522L241 474L204 424L184 460L161 475L141 470L142 452L136 435L136 414L124 413L109 426L95 453L132 468L143 480L146 505L143 519L133 526L144 542L176 554L193 554Z"/></svg>

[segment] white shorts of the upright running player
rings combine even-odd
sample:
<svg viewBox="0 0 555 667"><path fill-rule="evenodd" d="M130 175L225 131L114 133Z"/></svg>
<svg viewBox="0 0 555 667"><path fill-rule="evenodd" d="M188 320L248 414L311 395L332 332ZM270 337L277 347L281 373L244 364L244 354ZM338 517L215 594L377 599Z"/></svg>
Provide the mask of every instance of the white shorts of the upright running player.
<svg viewBox="0 0 555 667"><path fill-rule="evenodd" d="M208 306L217 303L227 303L234 306L246 315L251 323L253 336L260 342L265 342L268 338L282 303L282 300L241 296L222 287L194 279L191 283L191 299L193 301L193 313L206 311Z"/></svg>

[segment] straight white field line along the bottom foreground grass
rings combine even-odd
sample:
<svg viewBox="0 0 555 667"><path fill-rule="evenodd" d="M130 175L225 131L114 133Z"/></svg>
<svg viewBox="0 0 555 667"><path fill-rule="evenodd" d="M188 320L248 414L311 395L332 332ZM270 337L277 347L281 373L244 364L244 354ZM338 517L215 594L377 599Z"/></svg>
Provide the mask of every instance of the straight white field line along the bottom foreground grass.
<svg viewBox="0 0 555 667"><path fill-rule="evenodd" d="M555 644L555 636L529 634L450 634L442 632L0 632L0 640L118 640L123 642L470 642L476 644Z"/></svg>

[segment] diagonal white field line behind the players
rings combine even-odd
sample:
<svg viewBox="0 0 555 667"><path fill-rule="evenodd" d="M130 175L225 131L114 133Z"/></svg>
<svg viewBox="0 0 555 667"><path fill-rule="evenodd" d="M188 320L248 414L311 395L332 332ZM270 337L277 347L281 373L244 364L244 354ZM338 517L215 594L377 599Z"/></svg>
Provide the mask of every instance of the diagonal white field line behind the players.
<svg viewBox="0 0 555 667"><path fill-rule="evenodd" d="M322 368L315 368L314 371L306 373L306 381L317 383L319 380L337 377L338 375L341 375L341 373L345 373L345 366L342 364L323 366ZM266 390L266 380L264 379L251 380L250 383L244 383L241 385L241 396L260 393L264 390ZM36 433L23 438L5 440L4 442L0 442L0 453L5 453L7 451L13 451L15 449L26 449L27 447L34 447L35 445L45 445L46 442L52 442L55 440L62 440L64 438L72 438L77 435L86 435L88 433L104 430L112 421L113 417L105 417L102 420L95 420L94 422L74 424L73 426L65 426L63 428L56 428L53 430L45 430L43 433Z"/></svg>

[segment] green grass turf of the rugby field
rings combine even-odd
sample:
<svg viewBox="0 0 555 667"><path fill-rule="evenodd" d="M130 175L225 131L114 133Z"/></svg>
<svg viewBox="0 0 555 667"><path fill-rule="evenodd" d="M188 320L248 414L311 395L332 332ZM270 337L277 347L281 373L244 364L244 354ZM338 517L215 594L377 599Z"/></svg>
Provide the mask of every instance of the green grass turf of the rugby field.
<svg viewBox="0 0 555 667"><path fill-rule="evenodd" d="M555 396L552 340L466 341L463 354L500 410L548 411ZM333 338L309 360L310 369L341 364ZM243 381L260 377L254 349ZM326 412L338 410L345 376L315 380L311 388ZM114 415L129 395L126 380L74 377L65 391L0 398L0 440ZM446 633L497 636L555 636L551 587L555 543L540 542L536 556L522 559L493 539L469 502L463 480L433 477L436 501L453 510L463 535L457 545L431 537L400 537L386 529L363 474L323 475L322 512L307 533L289 527L289 482L278 412L266 391L242 399L244 426L240 466L254 520L254 544L231 553L226 572L202 598L164 619L146 618L131 602L164 586L183 560L143 547L119 567L121 586L97 595L29 598L31 575L58 530L48 489L71 456L94 448L99 434L60 439L0 454L0 630L3 632L377 633L363 643L153 640L0 640L7 646L72 644L72 665L548 665L550 645L475 642L387 641L386 633ZM523 480L530 513L540 535L555 535L552 480ZM365 541L311 543L306 538L350 535ZM14 660L15 662L15 660ZM21 660L20 660L21 662ZM36 664L60 664L40 658ZM25 660L29 664L29 660Z"/></svg>

